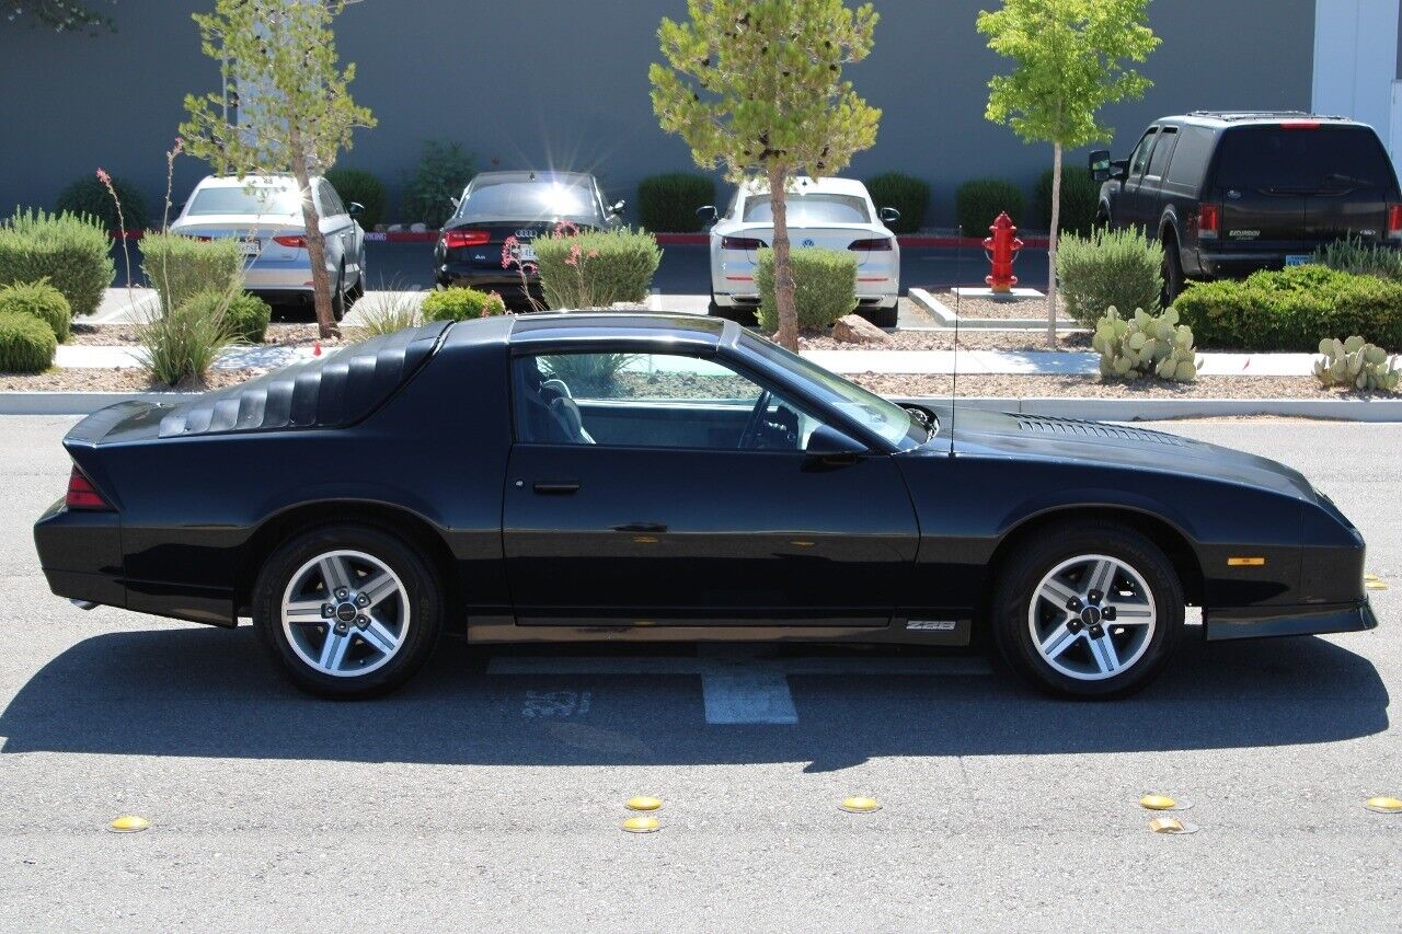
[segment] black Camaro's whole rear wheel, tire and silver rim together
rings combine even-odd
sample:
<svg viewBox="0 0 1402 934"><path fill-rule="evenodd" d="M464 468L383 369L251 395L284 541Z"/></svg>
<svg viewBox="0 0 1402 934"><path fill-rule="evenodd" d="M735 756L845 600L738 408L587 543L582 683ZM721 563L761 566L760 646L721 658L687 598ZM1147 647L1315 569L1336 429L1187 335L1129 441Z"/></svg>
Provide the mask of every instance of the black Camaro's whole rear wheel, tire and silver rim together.
<svg viewBox="0 0 1402 934"><path fill-rule="evenodd" d="M254 589L254 624L268 651L297 687L331 698L402 684L432 654L442 616L442 589L423 557L365 526L292 539Z"/></svg>

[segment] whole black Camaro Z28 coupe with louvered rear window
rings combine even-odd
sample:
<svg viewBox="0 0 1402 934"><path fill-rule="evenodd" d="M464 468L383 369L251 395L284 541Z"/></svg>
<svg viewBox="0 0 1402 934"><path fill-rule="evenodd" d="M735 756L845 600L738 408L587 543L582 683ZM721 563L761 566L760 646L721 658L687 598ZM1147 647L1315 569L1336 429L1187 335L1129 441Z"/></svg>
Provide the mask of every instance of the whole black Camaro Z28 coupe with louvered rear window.
<svg viewBox="0 0 1402 934"><path fill-rule="evenodd" d="M363 697L475 642L967 645L1123 694L1207 639L1368 630L1298 473L1138 428L899 405L729 321L531 314L373 338L63 440L55 593L254 624Z"/></svg>

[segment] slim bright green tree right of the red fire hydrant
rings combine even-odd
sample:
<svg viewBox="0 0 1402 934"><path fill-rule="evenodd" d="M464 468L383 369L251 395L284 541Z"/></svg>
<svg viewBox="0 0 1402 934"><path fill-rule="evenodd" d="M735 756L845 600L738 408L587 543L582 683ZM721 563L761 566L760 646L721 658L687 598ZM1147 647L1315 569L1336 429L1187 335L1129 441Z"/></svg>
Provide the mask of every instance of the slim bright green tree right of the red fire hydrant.
<svg viewBox="0 0 1402 934"><path fill-rule="evenodd" d="M1004 0L979 14L988 48L1012 59L1012 74L988 81L986 116L1028 143L1052 143L1052 238L1047 344L1056 348L1056 247L1061 223L1061 153L1113 130L1096 122L1106 104L1138 100L1152 81L1124 62L1144 62L1159 39L1150 0Z"/></svg>

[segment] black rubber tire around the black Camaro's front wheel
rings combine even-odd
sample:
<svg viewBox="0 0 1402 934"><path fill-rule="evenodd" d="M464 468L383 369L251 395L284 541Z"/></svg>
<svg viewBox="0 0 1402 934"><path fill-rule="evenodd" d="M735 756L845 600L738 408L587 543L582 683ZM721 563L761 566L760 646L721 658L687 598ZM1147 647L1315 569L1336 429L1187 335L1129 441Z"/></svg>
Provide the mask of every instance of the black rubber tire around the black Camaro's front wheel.
<svg viewBox="0 0 1402 934"><path fill-rule="evenodd" d="M1091 555L1112 558L1119 565L1113 576L1119 596L1108 590L1094 600L1094 583L1087 583L1085 576L1077 581L1077 574L1091 574L1095 564L1088 562L1085 571L1080 571L1075 561ZM1066 583L1071 590L1082 585L1089 588L1081 593L1081 614L1070 603L1061 609L1047 597L1035 597L1044 579L1063 564L1070 565L1066 575L1071 576L1053 578L1056 582L1075 581ZM1141 603L1144 595L1138 590L1143 588L1124 568L1138 575L1152 596L1152 610L1147 602ZM1113 617L1108 611L1110 606L1116 606ZM1091 607L1096 613L1088 613ZM1129 616L1145 610L1152 621L1147 635L1138 632L1141 624L1131 623ZM1106 625L1110 620L1123 625ZM1123 697L1148 684L1176 649L1183 630L1183 588L1162 550L1140 533L1113 522L1074 522L1039 533L1009 557L995 582L990 623L1002 658L1043 691L1077 698ZM1039 639L1052 642L1053 638L1060 647L1054 662L1039 648ZM1113 665L1105 662L1105 649L1098 648L1106 641ZM1123 669L1116 673L1119 663Z"/></svg>

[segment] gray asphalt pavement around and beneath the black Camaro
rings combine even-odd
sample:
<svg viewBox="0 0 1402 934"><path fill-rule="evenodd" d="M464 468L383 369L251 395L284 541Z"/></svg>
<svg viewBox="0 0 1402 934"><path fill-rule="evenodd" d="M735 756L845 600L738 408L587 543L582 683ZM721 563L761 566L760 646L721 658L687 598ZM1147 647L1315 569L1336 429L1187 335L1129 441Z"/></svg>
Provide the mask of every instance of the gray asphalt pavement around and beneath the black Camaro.
<svg viewBox="0 0 1402 934"><path fill-rule="evenodd" d="M1402 797L1402 425L1161 426L1302 470L1391 589L1374 632L1195 642L1127 701L1046 700L977 654L449 644L332 704L247 625L49 595L29 523L73 421L0 418L0 927L1396 924L1402 815L1363 802ZM1148 791L1199 833L1151 833ZM662 832L620 830L638 794ZM883 808L838 809L858 794ZM153 826L107 833L121 813Z"/></svg>

